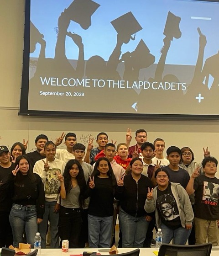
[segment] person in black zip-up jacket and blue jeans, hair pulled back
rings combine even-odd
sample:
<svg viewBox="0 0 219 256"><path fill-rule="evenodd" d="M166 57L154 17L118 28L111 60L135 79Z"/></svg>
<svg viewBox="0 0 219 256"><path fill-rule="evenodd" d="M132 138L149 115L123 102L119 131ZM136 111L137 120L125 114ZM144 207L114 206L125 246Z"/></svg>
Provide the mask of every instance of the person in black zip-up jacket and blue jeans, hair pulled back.
<svg viewBox="0 0 219 256"><path fill-rule="evenodd" d="M120 178L115 198L120 200L119 221L122 231L122 247L143 247L152 214L144 210L147 189L151 180L142 175L143 163L139 158L130 161L131 173Z"/></svg>

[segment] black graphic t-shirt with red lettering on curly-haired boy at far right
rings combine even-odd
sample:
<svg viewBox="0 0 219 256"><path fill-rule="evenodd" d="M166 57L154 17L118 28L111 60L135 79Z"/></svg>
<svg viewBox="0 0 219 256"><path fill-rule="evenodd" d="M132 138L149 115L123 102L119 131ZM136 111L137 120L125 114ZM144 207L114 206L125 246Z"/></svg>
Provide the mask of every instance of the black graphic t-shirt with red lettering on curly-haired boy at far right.
<svg viewBox="0 0 219 256"><path fill-rule="evenodd" d="M194 181L194 215L200 219L219 219L219 179L201 175Z"/></svg>

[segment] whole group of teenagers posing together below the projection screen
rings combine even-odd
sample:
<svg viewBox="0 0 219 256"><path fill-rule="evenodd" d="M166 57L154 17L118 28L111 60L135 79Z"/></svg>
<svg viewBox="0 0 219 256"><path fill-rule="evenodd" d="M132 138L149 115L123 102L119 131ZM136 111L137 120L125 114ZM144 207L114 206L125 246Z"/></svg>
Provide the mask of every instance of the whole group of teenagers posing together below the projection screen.
<svg viewBox="0 0 219 256"><path fill-rule="evenodd" d="M65 149L57 149L63 143ZM27 142L0 146L0 247L34 245L36 232L46 248L69 240L69 248L109 248L115 243L119 214L119 246L150 247L153 229L162 229L163 243L219 243L218 161L204 151L202 163L189 147L147 142L136 131L136 145L109 143L108 135L89 139L87 149L75 133L55 142L40 134L36 151ZM48 225L49 224L49 225Z"/></svg>

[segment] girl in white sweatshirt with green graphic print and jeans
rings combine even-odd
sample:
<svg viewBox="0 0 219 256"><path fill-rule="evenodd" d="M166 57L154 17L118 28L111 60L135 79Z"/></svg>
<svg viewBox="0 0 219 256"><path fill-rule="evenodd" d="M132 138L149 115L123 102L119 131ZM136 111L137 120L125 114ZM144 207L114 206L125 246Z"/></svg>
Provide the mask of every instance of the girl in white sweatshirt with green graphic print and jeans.
<svg viewBox="0 0 219 256"><path fill-rule="evenodd" d="M55 158L56 145L52 141L48 141L44 146L46 158L39 160L33 167L33 172L37 173L44 184L45 190L45 213L43 221L39 225L39 232L42 238L42 248L46 248L46 235L48 220L50 222L51 230L51 248L59 247L58 236L58 210L59 204L57 203L60 187L57 173L63 174L65 162Z"/></svg>

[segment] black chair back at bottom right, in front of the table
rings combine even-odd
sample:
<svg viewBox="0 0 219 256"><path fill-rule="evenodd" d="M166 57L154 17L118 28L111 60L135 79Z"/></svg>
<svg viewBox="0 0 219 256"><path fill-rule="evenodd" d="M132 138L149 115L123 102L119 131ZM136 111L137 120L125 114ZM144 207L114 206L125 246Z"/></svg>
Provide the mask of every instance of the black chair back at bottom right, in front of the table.
<svg viewBox="0 0 219 256"><path fill-rule="evenodd" d="M211 243L203 245L162 244L158 256L210 256Z"/></svg>

